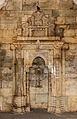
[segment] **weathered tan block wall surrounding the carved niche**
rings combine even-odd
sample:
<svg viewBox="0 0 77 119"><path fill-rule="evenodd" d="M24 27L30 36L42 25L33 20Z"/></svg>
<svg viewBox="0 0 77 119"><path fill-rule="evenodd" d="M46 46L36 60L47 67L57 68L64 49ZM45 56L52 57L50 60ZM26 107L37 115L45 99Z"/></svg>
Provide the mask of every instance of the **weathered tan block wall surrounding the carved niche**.
<svg viewBox="0 0 77 119"><path fill-rule="evenodd" d="M0 10L0 110L12 109L14 56L10 44L16 42L17 35L21 35L21 24L27 22L38 5L54 23L54 36L60 36L60 40L69 45L69 50L64 50L63 96L67 97L67 111L77 111L77 5L73 0L6 2L6 6Z"/></svg>

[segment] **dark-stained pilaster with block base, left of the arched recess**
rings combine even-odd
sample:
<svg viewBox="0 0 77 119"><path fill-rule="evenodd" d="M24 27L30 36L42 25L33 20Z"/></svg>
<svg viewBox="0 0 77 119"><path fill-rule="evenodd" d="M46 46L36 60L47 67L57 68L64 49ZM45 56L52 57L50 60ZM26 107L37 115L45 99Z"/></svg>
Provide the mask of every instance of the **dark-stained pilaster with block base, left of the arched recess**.
<svg viewBox="0 0 77 119"><path fill-rule="evenodd" d="M24 61L23 61L23 51L21 45L15 46L15 96L14 96L14 112L24 112L24 107L26 106L25 103L25 96L24 96Z"/></svg>

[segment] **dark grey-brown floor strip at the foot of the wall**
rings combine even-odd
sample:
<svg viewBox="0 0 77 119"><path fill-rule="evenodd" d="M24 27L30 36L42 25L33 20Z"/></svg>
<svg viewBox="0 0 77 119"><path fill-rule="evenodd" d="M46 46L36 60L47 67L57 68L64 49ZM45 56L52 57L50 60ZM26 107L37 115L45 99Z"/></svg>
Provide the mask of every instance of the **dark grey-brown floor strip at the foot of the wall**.
<svg viewBox="0 0 77 119"><path fill-rule="evenodd" d="M77 112L50 114L46 111L31 111L24 114L0 113L0 119L77 119Z"/></svg>

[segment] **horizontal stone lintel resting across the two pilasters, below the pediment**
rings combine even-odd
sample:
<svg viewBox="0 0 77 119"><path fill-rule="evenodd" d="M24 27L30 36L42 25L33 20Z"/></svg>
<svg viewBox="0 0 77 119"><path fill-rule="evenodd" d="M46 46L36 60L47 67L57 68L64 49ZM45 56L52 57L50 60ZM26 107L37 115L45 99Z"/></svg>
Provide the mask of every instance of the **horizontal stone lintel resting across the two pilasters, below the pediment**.
<svg viewBox="0 0 77 119"><path fill-rule="evenodd" d="M52 50L52 49L61 49L63 47L63 44L64 42L63 41L44 41L44 42L41 42L39 41L39 50ZM17 43L13 43L13 44L10 44L10 49L11 50L14 50L14 49L17 49L17 50L36 50L37 48L37 41L34 42L34 41L25 41L25 42L17 42Z"/></svg>

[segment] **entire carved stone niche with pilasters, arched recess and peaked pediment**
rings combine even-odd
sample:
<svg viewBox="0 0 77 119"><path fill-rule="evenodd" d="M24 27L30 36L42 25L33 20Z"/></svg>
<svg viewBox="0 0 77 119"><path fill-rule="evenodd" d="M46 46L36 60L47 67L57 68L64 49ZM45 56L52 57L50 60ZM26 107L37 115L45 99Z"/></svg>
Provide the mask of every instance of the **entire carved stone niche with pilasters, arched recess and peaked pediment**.
<svg viewBox="0 0 77 119"><path fill-rule="evenodd" d="M60 34L57 35L55 27L54 20L42 11L34 12L24 25L18 26L17 31L21 32L11 45L16 61L15 112L30 111L31 108L58 113L65 111L67 97L61 92L61 54L62 48L68 47L61 41L62 28L58 28Z"/></svg>

